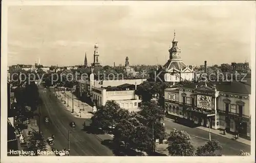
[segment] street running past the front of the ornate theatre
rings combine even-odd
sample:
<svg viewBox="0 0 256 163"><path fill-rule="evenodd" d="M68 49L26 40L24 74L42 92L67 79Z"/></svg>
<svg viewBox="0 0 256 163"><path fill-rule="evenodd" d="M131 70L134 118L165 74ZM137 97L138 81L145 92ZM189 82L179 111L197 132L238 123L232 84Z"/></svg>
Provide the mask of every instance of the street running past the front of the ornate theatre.
<svg viewBox="0 0 256 163"><path fill-rule="evenodd" d="M205 130L202 130L199 128L190 128L190 127L175 123L168 119L165 119L164 123L165 123L165 129L167 133L170 133L170 129L172 128L186 131L191 137L191 142L196 147L204 145L206 140L209 139L209 132ZM218 140L220 142L220 144L223 147L224 155L237 155L241 149L243 149L246 152L250 152L250 149L251 149L251 147L246 144L222 137L221 135L217 135L214 133L211 133L211 140Z"/></svg>

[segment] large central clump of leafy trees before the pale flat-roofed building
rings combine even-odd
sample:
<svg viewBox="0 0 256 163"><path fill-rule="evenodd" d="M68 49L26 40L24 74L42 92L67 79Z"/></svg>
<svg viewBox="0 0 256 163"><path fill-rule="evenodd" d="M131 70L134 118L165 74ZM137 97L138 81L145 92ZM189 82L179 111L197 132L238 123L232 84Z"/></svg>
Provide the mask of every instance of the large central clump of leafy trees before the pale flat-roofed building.
<svg viewBox="0 0 256 163"><path fill-rule="evenodd" d="M152 151L156 139L164 139L165 128L161 122L163 110L154 101L144 102L141 111L130 113L114 100L99 107L92 119L92 125L110 129L114 134L113 142L125 148Z"/></svg>

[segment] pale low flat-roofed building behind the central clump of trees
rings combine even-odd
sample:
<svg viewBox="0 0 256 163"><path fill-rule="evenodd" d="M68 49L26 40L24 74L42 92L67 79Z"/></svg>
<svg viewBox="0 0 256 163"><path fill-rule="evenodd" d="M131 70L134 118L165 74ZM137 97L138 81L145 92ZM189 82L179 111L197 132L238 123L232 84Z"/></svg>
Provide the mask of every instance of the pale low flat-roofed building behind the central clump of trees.
<svg viewBox="0 0 256 163"><path fill-rule="evenodd" d="M136 85L123 84L117 87L92 88L92 100L96 106L105 105L108 100L115 100L120 107L129 111L138 111L141 103L139 96L135 94Z"/></svg>

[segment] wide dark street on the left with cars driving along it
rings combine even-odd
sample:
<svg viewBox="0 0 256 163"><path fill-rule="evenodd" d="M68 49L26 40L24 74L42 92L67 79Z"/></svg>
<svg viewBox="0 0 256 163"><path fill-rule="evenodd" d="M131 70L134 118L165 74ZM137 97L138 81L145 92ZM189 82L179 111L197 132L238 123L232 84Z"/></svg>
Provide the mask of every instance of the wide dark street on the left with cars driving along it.
<svg viewBox="0 0 256 163"><path fill-rule="evenodd" d="M102 140L111 139L109 135L95 135L82 130L82 124L86 119L75 118L66 110L65 106L53 95L50 89L39 86L39 95L42 99L40 107L41 131L45 137L55 135L57 150L68 149L68 131L70 131L70 155L71 156L111 156L112 150L101 144ZM44 123L44 117L49 117L50 123ZM87 121L87 120L86 120ZM75 122L72 128L70 122ZM87 121L87 125L89 121Z"/></svg>

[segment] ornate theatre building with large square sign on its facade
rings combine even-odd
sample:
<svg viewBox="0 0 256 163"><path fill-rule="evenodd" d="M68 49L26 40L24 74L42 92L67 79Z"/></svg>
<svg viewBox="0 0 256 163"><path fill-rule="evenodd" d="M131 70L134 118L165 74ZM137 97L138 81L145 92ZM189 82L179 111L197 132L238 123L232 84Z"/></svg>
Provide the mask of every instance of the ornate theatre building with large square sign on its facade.
<svg viewBox="0 0 256 163"><path fill-rule="evenodd" d="M190 83L165 89L165 113L179 123L250 138L249 98L250 86L240 82Z"/></svg>

